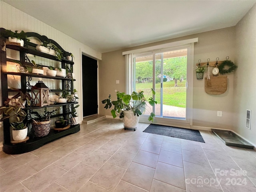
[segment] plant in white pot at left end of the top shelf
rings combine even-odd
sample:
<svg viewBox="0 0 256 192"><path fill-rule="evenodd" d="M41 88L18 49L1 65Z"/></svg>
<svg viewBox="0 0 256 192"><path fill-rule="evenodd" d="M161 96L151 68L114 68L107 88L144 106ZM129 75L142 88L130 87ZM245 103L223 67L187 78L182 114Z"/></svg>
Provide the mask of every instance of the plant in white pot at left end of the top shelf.
<svg viewBox="0 0 256 192"><path fill-rule="evenodd" d="M11 30L4 30L4 32L1 33L1 37L7 38L9 42L15 42L20 43L20 46L24 46L24 41L30 41L27 39L26 33L24 31L21 31L18 33L17 30L12 32Z"/></svg>

